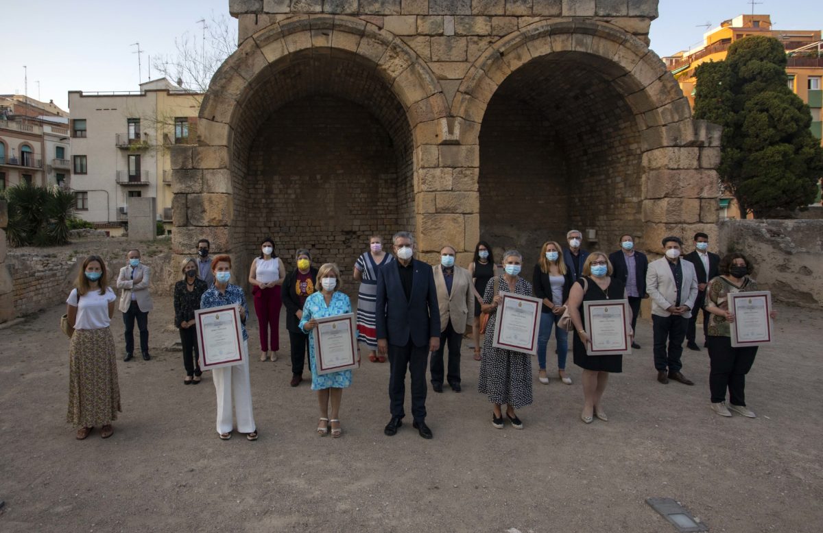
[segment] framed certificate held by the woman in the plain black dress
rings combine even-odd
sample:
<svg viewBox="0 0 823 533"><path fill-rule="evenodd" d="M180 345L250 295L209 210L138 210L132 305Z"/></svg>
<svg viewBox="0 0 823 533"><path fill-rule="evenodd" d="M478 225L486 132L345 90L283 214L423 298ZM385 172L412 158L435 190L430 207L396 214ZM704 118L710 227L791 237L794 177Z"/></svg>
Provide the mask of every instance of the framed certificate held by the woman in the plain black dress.
<svg viewBox="0 0 823 533"><path fill-rule="evenodd" d="M588 355L625 355L631 353L629 300L597 300L583 303Z"/></svg>

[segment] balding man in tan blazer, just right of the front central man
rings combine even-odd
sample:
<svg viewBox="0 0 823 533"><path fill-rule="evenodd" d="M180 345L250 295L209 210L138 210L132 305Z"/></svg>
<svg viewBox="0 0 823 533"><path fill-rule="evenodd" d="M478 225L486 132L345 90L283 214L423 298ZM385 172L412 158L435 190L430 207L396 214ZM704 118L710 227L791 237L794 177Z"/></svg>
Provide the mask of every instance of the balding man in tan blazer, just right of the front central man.
<svg viewBox="0 0 823 533"><path fill-rule="evenodd" d="M443 392L443 355L449 345L449 373L446 380L460 392L460 345L466 332L469 312L474 313L472 275L454 264L456 251L451 246L440 250L440 264L434 266L437 305L440 308L440 347L431 355L431 388Z"/></svg>

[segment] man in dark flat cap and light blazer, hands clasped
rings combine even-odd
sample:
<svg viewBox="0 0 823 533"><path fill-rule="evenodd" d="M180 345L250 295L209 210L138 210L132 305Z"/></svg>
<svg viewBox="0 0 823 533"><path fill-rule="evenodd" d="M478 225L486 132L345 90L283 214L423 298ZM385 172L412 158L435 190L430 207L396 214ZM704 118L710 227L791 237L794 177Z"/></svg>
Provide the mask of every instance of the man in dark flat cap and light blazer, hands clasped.
<svg viewBox="0 0 823 533"><path fill-rule="evenodd" d="M664 385L669 379L695 384L681 373L683 339L697 299L695 267L680 260L682 245L679 237L664 237L666 255L650 262L646 274L646 292L652 299L654 368L658 370L658 382Z"/></svg>

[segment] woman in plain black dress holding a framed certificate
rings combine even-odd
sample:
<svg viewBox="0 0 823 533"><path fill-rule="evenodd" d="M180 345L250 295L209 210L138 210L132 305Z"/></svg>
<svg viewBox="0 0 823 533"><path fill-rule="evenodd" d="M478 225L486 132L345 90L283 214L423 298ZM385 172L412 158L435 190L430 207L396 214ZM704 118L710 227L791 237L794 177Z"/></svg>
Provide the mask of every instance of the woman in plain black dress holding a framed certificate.
<svg viewBox="0 0 823 533"><path fill-rule="evenodd" d="M583 303L607 299L625 299L625 285L611 277L611 262L605 253L593 252L586 257L583 277L574 282L569 294L569 314L574 323L574 364L583 368L583 413L580 418L591 424L593 415L608 420L601 398L606 390L609 373L623 371L622 355L587 355L586 323ZM630 331L634 338L635 332Z"/></svg>

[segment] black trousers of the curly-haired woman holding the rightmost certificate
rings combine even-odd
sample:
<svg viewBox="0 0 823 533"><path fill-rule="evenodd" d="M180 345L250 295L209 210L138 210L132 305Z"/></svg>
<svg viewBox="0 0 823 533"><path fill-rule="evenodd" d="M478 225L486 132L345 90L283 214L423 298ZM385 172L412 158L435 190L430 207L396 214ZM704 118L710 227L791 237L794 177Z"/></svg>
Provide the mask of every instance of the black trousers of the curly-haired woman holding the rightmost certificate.
<svg viewBox="0 0 823 533"><path fill-rule="evenodd" d="M746 406L746 374L755 362L757 346L732 348L732 339L727 336L708 336L709 346L709 390L712 403L728 399L735 406Z"/></svg>

